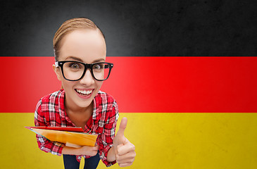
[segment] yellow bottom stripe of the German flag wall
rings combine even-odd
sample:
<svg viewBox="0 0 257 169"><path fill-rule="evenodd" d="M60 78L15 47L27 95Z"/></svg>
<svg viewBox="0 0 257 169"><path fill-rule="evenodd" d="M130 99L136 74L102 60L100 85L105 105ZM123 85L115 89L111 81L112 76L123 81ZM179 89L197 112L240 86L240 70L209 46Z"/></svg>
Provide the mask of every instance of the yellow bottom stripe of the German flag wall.
<svg viewBox="0 0 257 169"><path fill-rule="evenodd" d="M128 168L257 168L257 113L120 113L118 125L123 117L137 153ZM63 168L25 129L33 121L33 113L0 113L1 168Z"/></svg>

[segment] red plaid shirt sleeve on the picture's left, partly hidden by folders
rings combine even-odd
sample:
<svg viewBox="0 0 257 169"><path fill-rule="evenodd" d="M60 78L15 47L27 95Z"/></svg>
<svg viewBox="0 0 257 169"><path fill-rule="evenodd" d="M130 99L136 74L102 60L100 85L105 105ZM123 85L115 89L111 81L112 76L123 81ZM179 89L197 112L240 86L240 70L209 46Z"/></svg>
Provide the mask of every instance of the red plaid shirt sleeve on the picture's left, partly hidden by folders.
<svg viewBox="0 0 257 169"><path fill-rule="evenodd" d="M35 126L46 126L44 113L42 113L42 100L38 102L36 107ZM49 139L46 139L39 134L37 134L36 137L39 149L45 151L46 153L51 153L58 156L62 155L64 144L59 142L51 142Z"/></svg>

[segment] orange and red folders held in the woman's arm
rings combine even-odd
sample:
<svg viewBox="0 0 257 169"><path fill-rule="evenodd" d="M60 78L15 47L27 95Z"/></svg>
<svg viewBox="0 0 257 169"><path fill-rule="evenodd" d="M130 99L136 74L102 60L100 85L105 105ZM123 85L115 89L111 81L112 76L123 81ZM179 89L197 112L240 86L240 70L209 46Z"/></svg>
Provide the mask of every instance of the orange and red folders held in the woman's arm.
<svg viewBox="0 0 257 169"><path fill-rule="evenodd" d="M81 127L26 127L36 134L49 139L52 142L61 142L66 146L94 146L97 134L87 134ZM68 131L67 131L68 130ZM75 131L75 132L73 132Z"/></svg>

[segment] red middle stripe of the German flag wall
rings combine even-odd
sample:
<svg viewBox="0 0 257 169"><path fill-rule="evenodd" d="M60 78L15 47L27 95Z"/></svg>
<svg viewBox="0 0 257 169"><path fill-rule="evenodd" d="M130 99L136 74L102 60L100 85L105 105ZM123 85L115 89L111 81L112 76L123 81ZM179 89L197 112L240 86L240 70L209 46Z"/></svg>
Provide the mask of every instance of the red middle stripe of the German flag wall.
<svg viewBox="0 0 257 169"><path fill-rule="evenodd" d="M0 57L0 112L34 112L61 87L54 57ZM120 112L257 112L257 57L108 57Z"/></svg>

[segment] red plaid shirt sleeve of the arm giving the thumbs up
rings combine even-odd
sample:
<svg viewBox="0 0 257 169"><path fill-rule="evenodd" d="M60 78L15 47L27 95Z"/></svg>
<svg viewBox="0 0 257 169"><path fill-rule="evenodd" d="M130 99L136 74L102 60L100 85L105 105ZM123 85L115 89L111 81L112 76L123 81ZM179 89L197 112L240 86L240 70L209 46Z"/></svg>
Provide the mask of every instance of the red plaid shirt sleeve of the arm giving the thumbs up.
<svg viewBox="0 0 257 169"><path fill-rule="evenodd" d="M101 161L103 161L103 163L107 167L116 163L116 161L108 162L107 154L108 154L108 151L113 146L113 139L115 137L115 130L116 130L118 117L119 117L118 105L114 102L113 108L109 113L108 120L104 125L104 129L101 134L101 137L99 137L99 155L100 155Z"/></svg>

